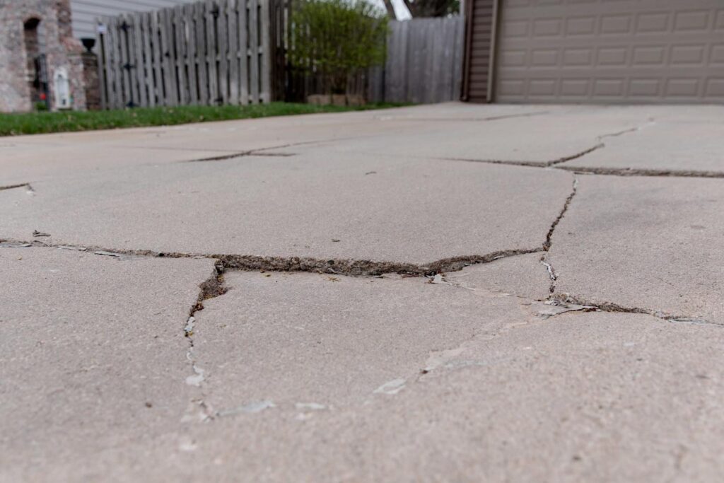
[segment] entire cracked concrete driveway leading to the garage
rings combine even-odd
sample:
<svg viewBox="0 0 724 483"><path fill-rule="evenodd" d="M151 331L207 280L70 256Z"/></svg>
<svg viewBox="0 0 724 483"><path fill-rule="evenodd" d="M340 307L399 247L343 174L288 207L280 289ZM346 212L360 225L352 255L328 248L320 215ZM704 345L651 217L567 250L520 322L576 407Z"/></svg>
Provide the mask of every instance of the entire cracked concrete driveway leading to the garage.
<svg viewBox="0 0 724 483"><path fill-rule="evenodd" d="M0 141L0 481L724 472L724 107Z"/></svg>

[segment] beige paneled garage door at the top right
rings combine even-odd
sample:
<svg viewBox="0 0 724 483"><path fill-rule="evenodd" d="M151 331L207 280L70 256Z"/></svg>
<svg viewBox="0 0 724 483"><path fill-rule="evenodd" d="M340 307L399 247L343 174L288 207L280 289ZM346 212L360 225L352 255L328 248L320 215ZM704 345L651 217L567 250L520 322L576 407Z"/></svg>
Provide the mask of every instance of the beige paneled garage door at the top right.
<svg viewBox="0 0 724 483"><path fill-rule="evenodd" d="M724 101L724 0L502 0L498 102Z"/></svg>

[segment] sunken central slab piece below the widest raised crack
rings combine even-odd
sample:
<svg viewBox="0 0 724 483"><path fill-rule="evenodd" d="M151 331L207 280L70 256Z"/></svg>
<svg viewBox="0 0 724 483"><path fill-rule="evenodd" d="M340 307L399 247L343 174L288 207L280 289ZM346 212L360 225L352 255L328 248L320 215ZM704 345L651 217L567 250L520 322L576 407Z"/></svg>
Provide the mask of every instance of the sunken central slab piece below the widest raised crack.
<svg viewBox="0 0 724 483"><path fill-rule="evenodd" d="M455 354L445 348L525 319L518 298L424 277L227 272L224 279L228 292L204 303L193 331L212 416L260 404L314 410L384 398L445 364Z"/></svg>

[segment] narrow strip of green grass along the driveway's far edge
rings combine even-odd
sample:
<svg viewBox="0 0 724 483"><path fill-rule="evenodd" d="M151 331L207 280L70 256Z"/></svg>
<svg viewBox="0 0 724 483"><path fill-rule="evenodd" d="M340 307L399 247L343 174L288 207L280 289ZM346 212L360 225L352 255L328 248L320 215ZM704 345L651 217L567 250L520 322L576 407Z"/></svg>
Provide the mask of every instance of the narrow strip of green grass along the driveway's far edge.
<svg viewBox="0 0 724 483"><path fill-rule="evenodd" d="M41 133L67 133L119 127L168 126L189 122L251 119L256 117L347 112L385 109L404 104L367 104L366 106L314 106L272 102L253 106L180 106L122 109L88 112L0 113L0 136Z"/></svg>

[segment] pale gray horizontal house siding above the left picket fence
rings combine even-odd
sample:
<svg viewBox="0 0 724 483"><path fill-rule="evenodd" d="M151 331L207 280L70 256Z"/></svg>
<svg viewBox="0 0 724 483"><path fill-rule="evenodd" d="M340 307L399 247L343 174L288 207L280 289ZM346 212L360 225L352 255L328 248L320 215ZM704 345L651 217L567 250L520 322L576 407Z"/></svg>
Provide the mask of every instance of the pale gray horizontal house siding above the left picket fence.
<svg viewBox="0 0 724 483"><path fill-rule="evenodd" d="M96 18L125 12L151 12L196 0L70 0L75 38L96 38Z"/></svg>

